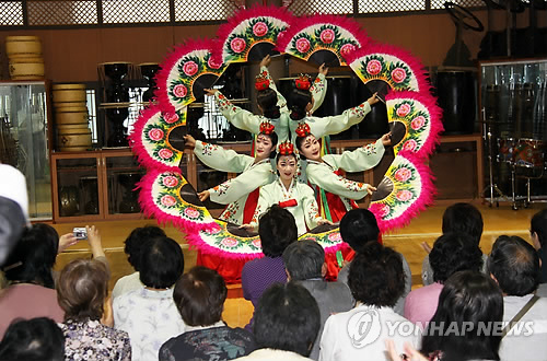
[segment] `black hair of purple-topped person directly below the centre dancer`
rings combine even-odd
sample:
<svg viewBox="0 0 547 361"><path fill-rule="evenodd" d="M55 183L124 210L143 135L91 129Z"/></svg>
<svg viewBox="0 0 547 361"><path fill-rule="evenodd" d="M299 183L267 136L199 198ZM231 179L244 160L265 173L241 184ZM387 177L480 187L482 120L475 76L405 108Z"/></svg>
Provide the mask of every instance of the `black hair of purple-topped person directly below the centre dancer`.
<svg viewBox="0 0 547 361"><path fill-rule="evenodd" d="M279 257L299 237L296 221L287 209L274 205L258 220L258 235L263 253L268 257Z"/></svg>

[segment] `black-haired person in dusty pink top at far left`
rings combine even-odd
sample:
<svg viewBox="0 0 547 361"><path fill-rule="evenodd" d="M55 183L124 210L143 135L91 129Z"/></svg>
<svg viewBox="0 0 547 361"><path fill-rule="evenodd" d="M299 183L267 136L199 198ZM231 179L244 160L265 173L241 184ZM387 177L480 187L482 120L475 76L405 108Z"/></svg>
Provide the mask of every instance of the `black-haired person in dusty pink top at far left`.
<svg viewBox="0 0 547 361"><path fill-rule="evenodd" d="M0 337L15 318L62 322L51 272L58 248L53 226L37 223L23 231L3 268L10 286L0 293Z"/></svg>

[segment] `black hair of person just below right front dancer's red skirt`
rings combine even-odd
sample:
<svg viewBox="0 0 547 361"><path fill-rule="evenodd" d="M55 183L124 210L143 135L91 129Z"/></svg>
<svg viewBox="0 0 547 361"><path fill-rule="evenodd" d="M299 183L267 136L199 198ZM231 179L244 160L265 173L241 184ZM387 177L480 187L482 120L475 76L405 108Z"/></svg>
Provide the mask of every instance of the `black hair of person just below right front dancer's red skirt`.
<svg viewBox="0 0 547 361"><path fill-rule="evenodd" d="M352 209L340 220L342 241L357 253L369 242L377 242L380 228L376 217L368 209Z"/></svg>

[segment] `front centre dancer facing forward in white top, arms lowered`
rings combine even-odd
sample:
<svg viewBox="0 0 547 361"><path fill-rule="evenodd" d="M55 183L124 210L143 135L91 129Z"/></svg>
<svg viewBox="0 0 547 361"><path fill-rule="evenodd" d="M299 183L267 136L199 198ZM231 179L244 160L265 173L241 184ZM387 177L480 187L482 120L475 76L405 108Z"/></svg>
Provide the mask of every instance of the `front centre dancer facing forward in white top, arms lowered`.
<svg viewBox="0 0 547 361"><path fill-rule="evenodd" d="M292 143L283 142L279 145L276 164L278 178L260 188L253 221L244 226L256 230L260 216L272 205L279 205L292 213L296 221L299 236L319 224L333 224L319 216L313 189L295 178L298 160Z"/></svg>

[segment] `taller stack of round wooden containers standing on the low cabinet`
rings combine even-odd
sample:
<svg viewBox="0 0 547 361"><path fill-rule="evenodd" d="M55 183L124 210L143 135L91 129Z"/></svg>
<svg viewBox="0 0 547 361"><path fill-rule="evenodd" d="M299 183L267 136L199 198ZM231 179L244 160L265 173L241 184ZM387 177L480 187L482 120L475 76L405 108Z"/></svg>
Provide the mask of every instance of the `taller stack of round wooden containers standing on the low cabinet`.
<svg viewBox="0 0 547 361"><path fill-rule="evenodd" d="M85 85L55 84L53 93L58 150L77 152L90 149Z"/></svg>

